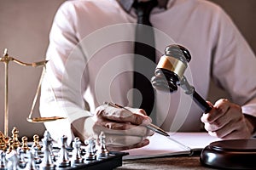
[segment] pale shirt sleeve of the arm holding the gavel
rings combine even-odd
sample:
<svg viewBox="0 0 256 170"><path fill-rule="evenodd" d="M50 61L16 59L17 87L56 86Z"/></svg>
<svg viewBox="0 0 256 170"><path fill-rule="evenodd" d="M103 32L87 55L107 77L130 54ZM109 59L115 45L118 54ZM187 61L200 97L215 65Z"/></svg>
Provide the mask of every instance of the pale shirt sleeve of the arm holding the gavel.
<svg viewBox="0 0 256 170"><path fill-rule="evenodd" d="M216 45L212 52L212 77L242 106L256 116L256 59L240 31L223 10L218 10Z"/></svg>

